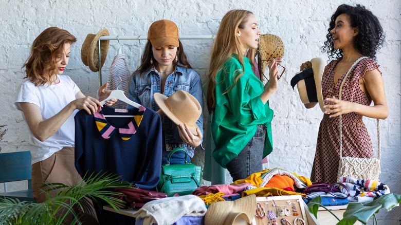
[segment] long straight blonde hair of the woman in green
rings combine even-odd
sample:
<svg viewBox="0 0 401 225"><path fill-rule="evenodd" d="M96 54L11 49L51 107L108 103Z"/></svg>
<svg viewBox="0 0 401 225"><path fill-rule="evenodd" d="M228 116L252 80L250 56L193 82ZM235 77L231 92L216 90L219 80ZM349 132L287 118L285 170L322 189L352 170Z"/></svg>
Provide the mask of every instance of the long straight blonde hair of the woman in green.
<svg viewBox="0 0 401 225"><path fill-rule="evenodd" d="M207 74L207 105L209 112L213 112L216 103L216 76L217 73L222 69L223 64L230 58L231 54L238 55L238 61L242 65L240 74L235 78L234 84L226 90L225 93L230 91L236 84L236 82L244 74L244 60L242 55L244 54L244 47L238 35L236 35L237 28L244 28L247 22L248 16L253 14L247 10L235 9L228 11L222 18L220 27L218 28L216 39L212 49L212 56L210 59L209 72ZM251 52L251 57L254 57L254 51ZM253 63L253 60L251 60ZM235 72L234 74L237 74Z"/></svg>

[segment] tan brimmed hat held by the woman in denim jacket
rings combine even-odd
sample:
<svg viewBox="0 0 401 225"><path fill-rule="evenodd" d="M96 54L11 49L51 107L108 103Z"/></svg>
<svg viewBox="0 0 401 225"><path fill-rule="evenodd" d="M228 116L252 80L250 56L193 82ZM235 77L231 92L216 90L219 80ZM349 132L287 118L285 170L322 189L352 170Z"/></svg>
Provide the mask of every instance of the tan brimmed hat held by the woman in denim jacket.
<svg viewBox="0 0 401 225"><path fill-rule="evenodd" d="M174 92L170 97L154 93L153 98L163 113L176 125L186 123L192 134L196 135L196 121L202 115L198 100L184 90Z"/></svg>

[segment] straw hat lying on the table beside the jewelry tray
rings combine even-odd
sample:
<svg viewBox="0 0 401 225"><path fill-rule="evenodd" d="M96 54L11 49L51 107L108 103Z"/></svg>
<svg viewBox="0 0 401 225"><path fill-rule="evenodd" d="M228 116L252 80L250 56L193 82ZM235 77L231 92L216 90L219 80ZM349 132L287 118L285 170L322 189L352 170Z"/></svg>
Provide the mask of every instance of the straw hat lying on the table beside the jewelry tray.
<svg viewBox="0 0 401 225"><path fill-rule="evenodd" d="M205 225L233 224L243 219L250 224L256 212L256 195L248 195L234 201L214 202L205 215Z"/></svg>

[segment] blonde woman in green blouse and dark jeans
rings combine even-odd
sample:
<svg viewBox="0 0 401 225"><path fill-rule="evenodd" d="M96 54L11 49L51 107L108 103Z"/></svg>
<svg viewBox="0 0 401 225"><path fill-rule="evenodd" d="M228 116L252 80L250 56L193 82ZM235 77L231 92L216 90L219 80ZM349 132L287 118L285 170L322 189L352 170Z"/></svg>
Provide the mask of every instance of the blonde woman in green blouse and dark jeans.
<svg viewBox="0 0 401 225"><path fill-rule="evenodd" d="M233 180L262 171L262 159L272 151L268 100L278 88L277 63L269 65L269 84L255 76L251 59L258 48L256 17L250 11L231 10L224 15L212 50L208 73L207 104L213 114L211 130L216 148L213 158Z"/></svg>

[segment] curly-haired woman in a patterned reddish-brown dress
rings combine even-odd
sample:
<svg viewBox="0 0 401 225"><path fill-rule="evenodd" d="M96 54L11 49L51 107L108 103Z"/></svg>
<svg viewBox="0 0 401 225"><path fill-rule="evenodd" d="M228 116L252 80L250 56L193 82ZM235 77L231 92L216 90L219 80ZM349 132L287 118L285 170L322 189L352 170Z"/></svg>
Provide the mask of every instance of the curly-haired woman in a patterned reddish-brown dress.
<svg viewBox="0 0 401 225"><path fill-rule="evenodd" d="M327 31L323 50L335 60L325 67L322 77L326 111L319 127L311 180L333 183L340 155L338 116L342 115L342 156L372 158L372 143L362 116L386 119L389 113L379 65L374 61L384 42L377 17L361 5L340 5ZM311 66L311 62L303 63L301 70ZM315 105L305 104L307 108Z"/></svg>

